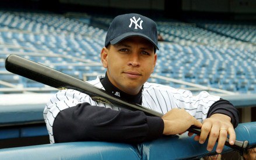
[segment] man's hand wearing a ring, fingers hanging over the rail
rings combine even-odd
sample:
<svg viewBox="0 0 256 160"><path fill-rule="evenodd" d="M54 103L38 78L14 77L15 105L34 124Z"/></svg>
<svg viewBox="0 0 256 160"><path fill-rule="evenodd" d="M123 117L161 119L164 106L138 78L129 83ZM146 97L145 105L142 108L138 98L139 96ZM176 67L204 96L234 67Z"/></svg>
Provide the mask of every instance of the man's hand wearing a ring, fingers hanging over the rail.
<svg viewBox="0 0 256 160"><path fill-rule="evenodd" d="M230 117L225 114L213 114L210 118L205 119L201 128L201 135L195 136L195 140L199 140L201 144L205 143L209 135L207 150L212 151L216 141L218 141L216 152L221 153L228 134L229 144L233 145L236 140L236 132L234 132L230 121ZM189 136L191 135L190 133Z"/></svg>

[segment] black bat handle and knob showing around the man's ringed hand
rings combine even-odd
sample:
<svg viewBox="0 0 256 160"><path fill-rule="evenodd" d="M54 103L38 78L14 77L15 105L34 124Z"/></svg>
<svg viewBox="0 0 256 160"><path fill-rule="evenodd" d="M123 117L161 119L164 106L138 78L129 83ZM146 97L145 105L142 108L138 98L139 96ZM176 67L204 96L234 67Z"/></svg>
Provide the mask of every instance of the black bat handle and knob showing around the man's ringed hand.
<svg viewBox="0 0 256 160"><path fill-rule="evenodd" d="M201 134L201 129L196 127L196 126L191 126L188 129L188 132L192 132L192 133L195 133L197 135L200 135ZM245 141L236 140L233 145L229 144L229 138L227 138L226 141L225 141L225 146L230 147L230 148L232 148L236 151L239 151L240 155L243 155L244 153L247 152L248 144L249 143L248 143L247 140L245 140Z"/></svg>

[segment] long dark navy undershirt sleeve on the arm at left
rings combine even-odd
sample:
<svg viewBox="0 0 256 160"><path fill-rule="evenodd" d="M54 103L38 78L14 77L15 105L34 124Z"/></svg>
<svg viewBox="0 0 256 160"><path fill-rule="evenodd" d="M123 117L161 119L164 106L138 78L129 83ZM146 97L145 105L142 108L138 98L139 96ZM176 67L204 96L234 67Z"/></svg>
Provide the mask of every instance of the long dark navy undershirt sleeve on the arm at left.
<svg viewBox="0 0 256 160"><path fill-rule="evenodd" d="M146 116L142 111L115 111L82 103L59 112L54 121L53 133L55 143L141 143L162 136L163 128L162 118Z"/></svg>

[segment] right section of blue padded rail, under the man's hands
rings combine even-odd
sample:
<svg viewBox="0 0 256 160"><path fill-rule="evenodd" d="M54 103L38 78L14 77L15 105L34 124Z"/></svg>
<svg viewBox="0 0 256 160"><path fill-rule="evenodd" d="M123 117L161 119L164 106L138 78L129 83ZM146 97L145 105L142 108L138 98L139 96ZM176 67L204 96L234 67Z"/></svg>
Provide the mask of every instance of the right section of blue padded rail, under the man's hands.
<svg viewBox="0 0 256 160"><path fill-rule="evenodd" d="M236 128L236 140L249 141L250 145L256 145L256 122L240 123ZM192 159L214 154L215 150L208 152L207 143L199 144L191 138L178 138L178 136L155 140L141 144L143 159ZM215 146L216 148L216 146ZM223 152L231 151L229 147ZM170 153L170 154L167 154Z"/></svg>

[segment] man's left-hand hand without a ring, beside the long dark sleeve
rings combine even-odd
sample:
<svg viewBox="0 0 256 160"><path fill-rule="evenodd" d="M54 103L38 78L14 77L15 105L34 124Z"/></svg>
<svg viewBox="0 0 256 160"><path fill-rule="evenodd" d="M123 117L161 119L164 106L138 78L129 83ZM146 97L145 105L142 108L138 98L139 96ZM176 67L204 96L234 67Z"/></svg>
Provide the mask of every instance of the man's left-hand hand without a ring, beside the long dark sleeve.
<svg viewBox="0 0 256 160"><path fill-rule="evenodd" d="M174 108L163 115L164 135L182 134L187 131L190 126L194 125L201 128L202 123L192 117L184 109Z"/></svg>

